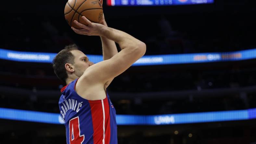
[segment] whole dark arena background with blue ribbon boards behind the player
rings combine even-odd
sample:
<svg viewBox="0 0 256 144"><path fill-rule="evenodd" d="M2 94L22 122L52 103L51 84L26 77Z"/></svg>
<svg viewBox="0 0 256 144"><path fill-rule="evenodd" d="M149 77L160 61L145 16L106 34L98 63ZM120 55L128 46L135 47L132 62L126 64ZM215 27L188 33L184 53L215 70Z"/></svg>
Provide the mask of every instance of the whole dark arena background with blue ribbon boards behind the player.
<svg viewBox="0 0 256 144"><path fill-rule="evenodd" d="M53 57L78 35L67 1L5 1L0 13L0 144L65 144ZM119 144L256 144L256 18L249 0L104 0L109 27L147 52L108 88Z"/></svg>

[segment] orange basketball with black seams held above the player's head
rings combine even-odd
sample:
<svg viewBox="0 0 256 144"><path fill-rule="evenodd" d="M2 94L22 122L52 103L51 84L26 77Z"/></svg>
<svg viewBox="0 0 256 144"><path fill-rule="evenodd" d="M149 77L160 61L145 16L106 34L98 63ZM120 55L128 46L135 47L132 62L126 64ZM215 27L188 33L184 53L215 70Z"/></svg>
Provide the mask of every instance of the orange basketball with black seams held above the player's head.
<svg viewBox="0 0 256 144"><path fill-rule="evenodd" d="M85 16L91 22L99 23L103 9L99 0L69 0L65 6L64 14L71 27L81 29L74 23L74 20L87 25L82 19Z"/></svg>

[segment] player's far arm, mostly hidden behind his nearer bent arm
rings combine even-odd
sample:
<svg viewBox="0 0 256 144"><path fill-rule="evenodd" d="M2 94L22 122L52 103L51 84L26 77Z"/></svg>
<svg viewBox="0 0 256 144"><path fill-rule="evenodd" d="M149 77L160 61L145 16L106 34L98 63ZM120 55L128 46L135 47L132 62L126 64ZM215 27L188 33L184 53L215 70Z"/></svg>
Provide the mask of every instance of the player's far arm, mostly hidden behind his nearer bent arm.
<svg viewBox="0 0 256 144"><path fill-rule="evenodd" d="M102 4L102 1L103 0L100 1L101 4ZM105 26L108 26L106 21L105 21L104 14L102 16L102 20L101 20L100 23L105 25ZM107 39L106 37L103 37L103 36L101 36L100 39L101 39L101 42L102 42L103 60L108 60L112 56L114 56L115 54L118 53L116 43L114 41L109 40L109 39ZM109 84L112 82L112 80L113 79L110 79L109 81L107 81L107 83L104 86L104 89L106 89L109 86Z"/></svg>

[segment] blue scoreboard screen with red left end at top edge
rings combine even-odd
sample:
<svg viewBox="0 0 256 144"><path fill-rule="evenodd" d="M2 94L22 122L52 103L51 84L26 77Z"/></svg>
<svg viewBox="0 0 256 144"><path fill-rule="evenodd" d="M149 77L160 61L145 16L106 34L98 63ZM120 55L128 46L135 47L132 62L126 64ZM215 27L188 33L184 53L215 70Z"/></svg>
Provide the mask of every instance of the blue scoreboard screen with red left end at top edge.
<svg viewBox="0 0 256 144"><path fill-rule="evenodd" d="M214 0L107 0L108 6L171 6L212 4Z"/></svg>

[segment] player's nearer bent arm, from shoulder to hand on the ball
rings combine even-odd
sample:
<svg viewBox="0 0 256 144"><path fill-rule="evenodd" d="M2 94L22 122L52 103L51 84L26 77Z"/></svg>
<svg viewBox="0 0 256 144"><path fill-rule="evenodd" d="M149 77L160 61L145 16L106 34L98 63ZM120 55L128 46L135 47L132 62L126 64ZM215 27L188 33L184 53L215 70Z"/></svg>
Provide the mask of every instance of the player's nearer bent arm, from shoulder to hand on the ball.
<svg viewBox="0 0 256 144"><path fill-rule="evenodd" d="M75 22L83 29L74 29L76 33L83 35L104 36L114 42L117 42L122 49L112 58L96 63L88 67L83 76L79 78L80 83L89 83L89 85L104 85L107 81L120 75L128 69L134 62L142 57L146 52L146 44L133 36L116 29L106 27L101 24L91 23L87 18L82 17L88 25Z"/></svg>

